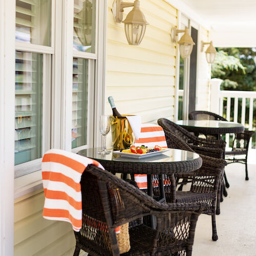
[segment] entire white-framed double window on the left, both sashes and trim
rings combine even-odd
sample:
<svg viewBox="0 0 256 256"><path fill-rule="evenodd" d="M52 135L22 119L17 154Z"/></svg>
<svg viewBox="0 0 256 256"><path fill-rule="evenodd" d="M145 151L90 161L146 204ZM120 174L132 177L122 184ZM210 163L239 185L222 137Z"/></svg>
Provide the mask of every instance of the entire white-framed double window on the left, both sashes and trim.
<svg viewBox="0 0 256 256"><path fill-rule="evenodd" d="M39 170L49 148L93 146L99 9L98 0L16 0L15 177Z"/></svg>

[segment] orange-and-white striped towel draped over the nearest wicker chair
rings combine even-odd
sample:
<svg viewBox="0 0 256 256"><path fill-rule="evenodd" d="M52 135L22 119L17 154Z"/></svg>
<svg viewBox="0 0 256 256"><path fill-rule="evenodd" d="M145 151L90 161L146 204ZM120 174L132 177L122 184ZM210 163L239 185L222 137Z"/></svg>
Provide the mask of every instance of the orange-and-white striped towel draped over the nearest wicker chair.
<svg viewBox="0 0 256 256"><path fill-rule="evenodd" d="M42 158L42 184L45 206L42 216L48 220L70 222L75 231L82 226L82 194L80 180L88 164L97 161L63 150L49 150ZM120 227L116 228L116 233Z"/></svg>

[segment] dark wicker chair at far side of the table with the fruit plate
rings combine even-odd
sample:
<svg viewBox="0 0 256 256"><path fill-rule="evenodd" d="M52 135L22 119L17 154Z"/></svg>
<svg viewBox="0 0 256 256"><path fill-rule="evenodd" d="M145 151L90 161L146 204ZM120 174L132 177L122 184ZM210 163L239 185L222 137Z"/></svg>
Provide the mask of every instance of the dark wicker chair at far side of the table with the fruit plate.
<svg viewBox="0 0 256 256"><path fill-rule="evenodd" d="M174 134L164 130L165 138L168 147L178 148L194 152L187 143L176 137ZM216 229L216 200L219 190L219 182L223 174L226 161L200 155L203 159L203 164L200 169L193 172L190 191L176 191L176 202L207 202L210 205L210 210L204 211L204 214L211 215L212 224L212 240L217 241ZM166 202L172 200L169 186L165 186ZM156 191L156 188L154 189ZM157 191L159 194L159 191Z"/></svg>

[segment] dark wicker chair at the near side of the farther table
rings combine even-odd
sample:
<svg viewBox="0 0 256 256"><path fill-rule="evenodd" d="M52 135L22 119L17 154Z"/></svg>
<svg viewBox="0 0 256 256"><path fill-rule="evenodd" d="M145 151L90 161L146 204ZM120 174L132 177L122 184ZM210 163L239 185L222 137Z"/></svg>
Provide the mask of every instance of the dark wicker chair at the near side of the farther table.
<svg viewBox="0 0 256 256"><path fill-rule="evenodd" d="M225 151L226 142L222 140L216 140L216 139L201 139L196 137L195 135L189 133L185 129L183 129L180 125L165 119L160 118L158 119L158 124L162 126L164 131L170 132L186 142L188 146L195 151L198 154L223 159L223 152ZM165 136L166 137L166 136ZM166 138L167 139L167 138ZM176 176L177 185L180 184L179 190L182 190L183 184L186 184L187 182L191 182L193 177L193 174L184 173L179 174ZM218 189L218 200L217 200L217 210L216 214L220 214L220 202L223 201L223 177L224 177L224 171L221 174L221 182L219 184ZM179 179L183 179L182 182L179 182Z"/></svg>

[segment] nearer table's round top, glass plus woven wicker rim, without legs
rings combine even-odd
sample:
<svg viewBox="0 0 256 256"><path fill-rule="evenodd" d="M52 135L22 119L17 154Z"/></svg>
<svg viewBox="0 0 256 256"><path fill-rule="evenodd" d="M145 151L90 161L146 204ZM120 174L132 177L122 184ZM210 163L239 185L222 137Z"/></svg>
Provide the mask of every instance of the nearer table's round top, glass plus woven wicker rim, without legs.
<svg viewBox="0 0 256 256"><path fill-rule="evenodd" d="M129 174L174 174L191 172L200 168L202 161L197 153L174 148L169 148L163 154L139 159L117 155L113 150L111 150L109 155L100 155L98 154L99 150L100 148L88 148L79 151L77 154L99 161L106 169L111 167L111 169L108 169L111 172L113 172L113 165L115 165L115 173ZM156 164L159 164L161 167L157 167ZM149 169L148 166L154 167Z"/></svg>

